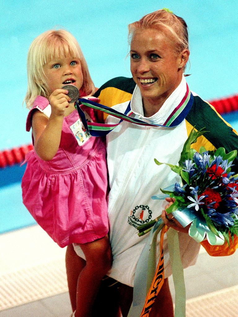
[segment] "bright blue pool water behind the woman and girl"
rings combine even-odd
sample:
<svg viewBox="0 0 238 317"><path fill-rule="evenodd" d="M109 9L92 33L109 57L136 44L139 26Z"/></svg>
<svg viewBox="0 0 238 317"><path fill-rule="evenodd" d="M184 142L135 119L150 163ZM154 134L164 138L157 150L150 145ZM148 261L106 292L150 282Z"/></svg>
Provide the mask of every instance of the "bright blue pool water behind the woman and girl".
<svg viewBox="0 0 238 317"><path fill-rule="evenodd" d="M1 4L0 151L31 142L25 132L26 55L32 40L47 29L64 28L81 45L97 87L130 77L127 25L154 10L169 8L188 24L191 90L205 100L238 92L238 2L211 0L4 1ZM238 130L238 113L224 118ZM22 204L20 181L25 166L0 169L0 233L35 223Z"/></svg>

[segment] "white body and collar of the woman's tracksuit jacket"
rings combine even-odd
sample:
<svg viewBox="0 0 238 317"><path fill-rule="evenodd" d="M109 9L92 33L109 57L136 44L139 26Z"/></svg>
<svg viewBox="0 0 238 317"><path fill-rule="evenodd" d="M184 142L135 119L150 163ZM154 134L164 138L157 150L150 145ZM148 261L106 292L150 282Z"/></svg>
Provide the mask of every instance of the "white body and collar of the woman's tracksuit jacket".
<svg viewBox="0 0 238 317"><path fill-rule="evenodd" d="M186 81L183 77L161 109L152 117L144 118L142 98L136 86L131 99L134 117L162 124L185 92ZM113 108L124 112L127 106L128 102L124 102ZM115 117L107 118L109 124L118 121ZM158 194L160 188L179 181L176 173L167 165L156 165L154 158L159 162L178 164L187 138L185 120L174 128L137 126L123 121L107 135L110 185L108 215L113 254L109 276L117 281L133 286L136 263L149 235L138 237L136 226L160 215L167 204L165 201L152 200L151 196ZM195 264L200 244L181 232L179 242L183 267ZM163 246L165 277L168 277L171 268L166 235Z"/></svg>

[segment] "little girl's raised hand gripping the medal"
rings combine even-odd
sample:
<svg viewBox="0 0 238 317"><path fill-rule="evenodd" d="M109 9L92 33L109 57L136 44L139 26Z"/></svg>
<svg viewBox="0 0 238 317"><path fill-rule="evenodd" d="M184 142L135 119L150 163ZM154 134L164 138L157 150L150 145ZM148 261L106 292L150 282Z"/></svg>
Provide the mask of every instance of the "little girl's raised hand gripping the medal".
<svg viewBox="0 0 238 317"><path fill-rule="evenodd" d="M51 115L53 117L63 117L65 114L65 109L69 107L68 90L56 89L49 97L51 106Z"/></svg>

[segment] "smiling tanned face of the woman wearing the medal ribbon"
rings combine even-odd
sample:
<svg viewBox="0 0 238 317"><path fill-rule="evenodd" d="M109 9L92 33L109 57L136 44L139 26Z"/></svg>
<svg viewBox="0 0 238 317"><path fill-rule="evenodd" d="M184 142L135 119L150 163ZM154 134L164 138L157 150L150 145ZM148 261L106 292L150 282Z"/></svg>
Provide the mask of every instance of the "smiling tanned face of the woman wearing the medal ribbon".
<svg viewBox="0 0 238 317"><path fill-rule="evenodd" d="M182 80L184 62L182 53L175 53L169 32L155 29L136 31L131 40L130 69L140 88L144 107L164 101ZM184 50L185 51L185 50Z"/></svg>

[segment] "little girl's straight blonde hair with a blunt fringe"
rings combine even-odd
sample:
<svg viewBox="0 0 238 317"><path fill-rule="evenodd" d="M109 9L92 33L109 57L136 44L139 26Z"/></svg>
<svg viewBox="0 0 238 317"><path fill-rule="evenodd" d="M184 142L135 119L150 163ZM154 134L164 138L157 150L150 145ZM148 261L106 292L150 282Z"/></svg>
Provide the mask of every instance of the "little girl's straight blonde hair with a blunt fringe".
<svg viewBox="0 0 238 317"><path fill-rule="evenodd" d="M52 59L66 56L78 58L81 62L83 85L80 91L86 95L95 93L95 86L89 74L88 65L75 37L68 31L49 30L35 38L31 43L27 55L27 93L25 103L31 108L37 95L49 97L49 87L46 85L43 66Z"/></svg>

